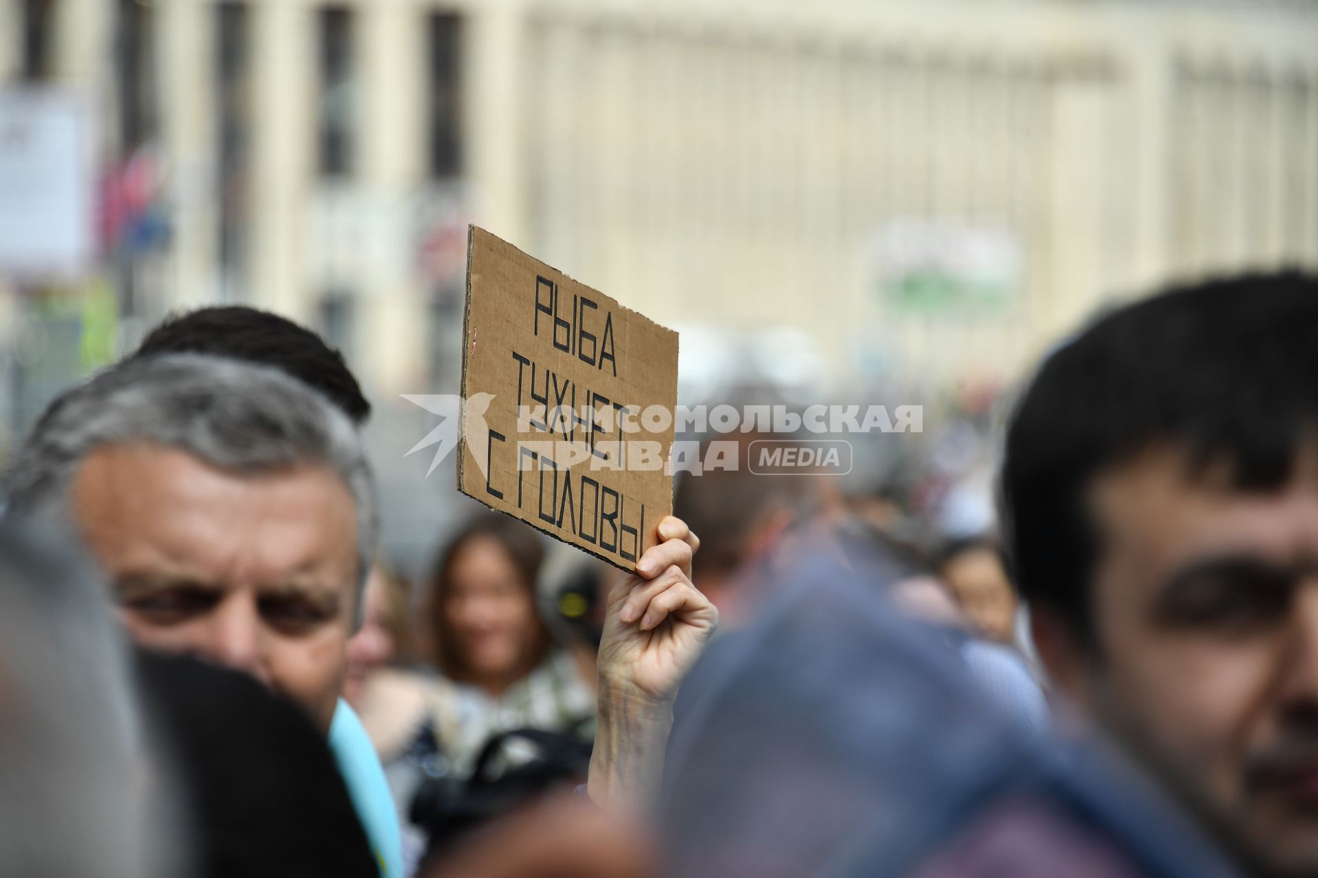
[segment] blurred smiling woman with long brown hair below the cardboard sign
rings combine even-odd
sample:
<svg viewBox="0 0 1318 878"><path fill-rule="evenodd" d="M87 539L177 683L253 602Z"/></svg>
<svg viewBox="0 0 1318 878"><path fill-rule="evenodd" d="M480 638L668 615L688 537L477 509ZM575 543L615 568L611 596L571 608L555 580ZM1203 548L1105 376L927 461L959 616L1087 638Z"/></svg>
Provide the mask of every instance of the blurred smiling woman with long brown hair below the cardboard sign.
<svg viewBox="0 0 1318 878"><path fill-rule="evenodd" d="M423 862L585 777L594 691L540 616L543 557L534 530L481 512L452 537L430 577L422 640L442 677L401 761L413 769L406 816L428 839Z"/></svg>

